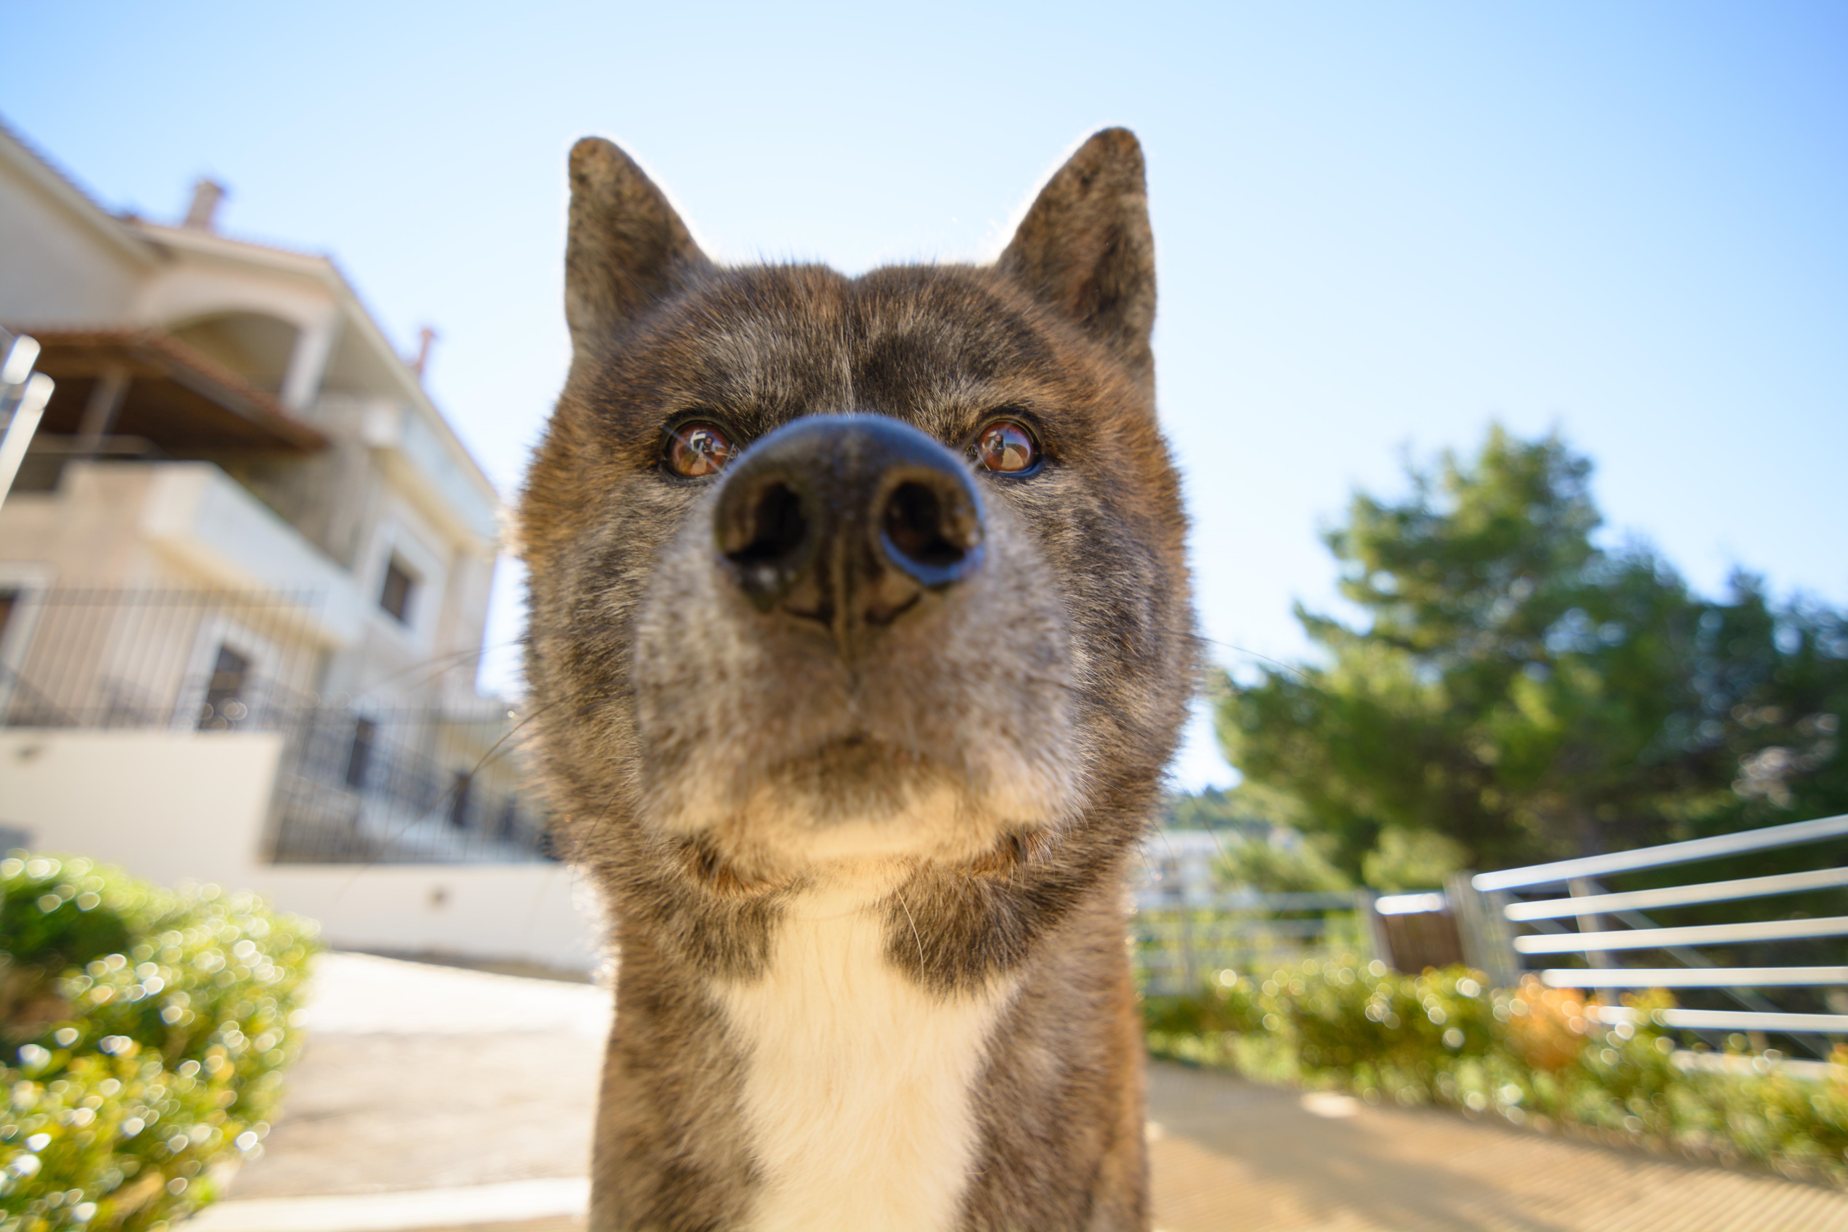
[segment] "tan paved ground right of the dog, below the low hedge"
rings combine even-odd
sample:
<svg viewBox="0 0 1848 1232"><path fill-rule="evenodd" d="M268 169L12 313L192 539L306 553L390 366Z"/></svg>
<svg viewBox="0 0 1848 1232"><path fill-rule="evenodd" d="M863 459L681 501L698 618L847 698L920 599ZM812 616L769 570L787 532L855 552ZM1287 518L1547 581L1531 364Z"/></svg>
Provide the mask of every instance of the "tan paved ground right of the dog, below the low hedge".
<svg viewBox="0 0 1848 1232"><path fill-rule="evenodd" d="M1162 1232L1835 1232L1848 1195L1153 1066Z"/></svg>

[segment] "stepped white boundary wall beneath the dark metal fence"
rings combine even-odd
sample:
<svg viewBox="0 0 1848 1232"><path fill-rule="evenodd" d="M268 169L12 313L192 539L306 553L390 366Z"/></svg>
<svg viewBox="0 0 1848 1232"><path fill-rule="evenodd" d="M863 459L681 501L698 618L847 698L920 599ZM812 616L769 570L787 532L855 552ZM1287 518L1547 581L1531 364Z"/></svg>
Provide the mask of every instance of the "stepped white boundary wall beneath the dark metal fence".
<svg viewBox="0 0 1848 1232"><path fill-rule="evenodd" d="M562 864L264 864L283 737L0 731L0 826L161 885L257 890L347 949L597 964L595 896Z"/></svg>

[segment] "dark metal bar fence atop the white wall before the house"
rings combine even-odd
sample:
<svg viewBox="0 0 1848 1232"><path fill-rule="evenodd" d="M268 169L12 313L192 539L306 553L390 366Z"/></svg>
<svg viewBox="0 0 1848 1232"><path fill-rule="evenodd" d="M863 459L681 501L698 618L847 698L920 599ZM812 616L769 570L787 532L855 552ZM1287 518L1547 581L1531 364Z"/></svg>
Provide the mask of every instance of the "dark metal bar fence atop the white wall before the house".
<svg viewBox="0 0 1848 1232"><path fill-rule="evenodd" d="M556 859L506 709L327 698L325 669L312 595L0 591L0 726L281 733L277 863Z"/></svg>

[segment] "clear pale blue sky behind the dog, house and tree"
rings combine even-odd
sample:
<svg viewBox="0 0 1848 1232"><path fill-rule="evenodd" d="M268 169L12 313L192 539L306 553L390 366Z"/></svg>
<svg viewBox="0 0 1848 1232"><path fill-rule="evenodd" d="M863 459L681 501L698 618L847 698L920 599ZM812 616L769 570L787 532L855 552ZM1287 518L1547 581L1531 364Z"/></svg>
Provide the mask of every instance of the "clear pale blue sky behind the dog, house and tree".
<svg viewBox="0 0 1848 1232"><path fill-rule="evenodd" d="M506 491L567 358L578 135L721 259L857 272L992 255L1127 124L1223 661L1303 654L1318 526L1491 419L1562 429L1696 586L1848 602L1848 6L15 2L0 46L0 116L107 205L216 175L225 231L333 253L407 351L434 325ZM1203 724L1177 779L1233 779Z"/></svg>

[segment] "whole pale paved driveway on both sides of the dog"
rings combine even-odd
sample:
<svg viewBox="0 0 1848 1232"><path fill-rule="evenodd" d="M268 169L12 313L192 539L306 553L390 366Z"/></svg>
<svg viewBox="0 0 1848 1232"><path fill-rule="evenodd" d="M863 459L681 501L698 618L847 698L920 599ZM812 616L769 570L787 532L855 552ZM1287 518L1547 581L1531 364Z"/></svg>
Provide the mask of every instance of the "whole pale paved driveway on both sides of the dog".
<svg viewBox="0 0 1848 1232"><path fill-rule="evenodd" d="M325 955L264 1156L188 1232L578 1232L608 996ZM1162 1232L1848 1232L1848 1195L1153 1066Z"/></svg>

